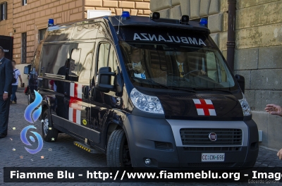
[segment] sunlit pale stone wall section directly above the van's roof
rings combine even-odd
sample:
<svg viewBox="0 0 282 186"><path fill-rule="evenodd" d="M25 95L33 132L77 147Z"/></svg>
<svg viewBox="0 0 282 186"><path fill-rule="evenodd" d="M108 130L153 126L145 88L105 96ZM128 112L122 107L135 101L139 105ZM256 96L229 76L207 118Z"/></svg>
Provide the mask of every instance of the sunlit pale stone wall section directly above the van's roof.
<svg viewBox="0 0 282 186"><path fill-rule="evenodd" d="M149 16L150 0L85 0L84 18L87 18L87 10L111 11L112 16L121 15L122 11L129 11L133 16Z"/></svg>

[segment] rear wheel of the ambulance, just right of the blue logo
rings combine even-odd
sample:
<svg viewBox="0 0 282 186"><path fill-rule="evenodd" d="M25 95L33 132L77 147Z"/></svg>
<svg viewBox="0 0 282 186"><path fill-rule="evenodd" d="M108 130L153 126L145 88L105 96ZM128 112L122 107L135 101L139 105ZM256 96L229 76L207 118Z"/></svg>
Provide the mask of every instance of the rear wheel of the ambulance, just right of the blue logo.
<svg viewBox="0 0 282 186"><path fill-rule="evenodd" d="M42 113L42 136L45 142L56 142L58 138L59 131L56 128L53 128L52 123L49 123L51 120L50 113L48 109L45 109ZM51 130L50 130L51 128Z"/></svg>

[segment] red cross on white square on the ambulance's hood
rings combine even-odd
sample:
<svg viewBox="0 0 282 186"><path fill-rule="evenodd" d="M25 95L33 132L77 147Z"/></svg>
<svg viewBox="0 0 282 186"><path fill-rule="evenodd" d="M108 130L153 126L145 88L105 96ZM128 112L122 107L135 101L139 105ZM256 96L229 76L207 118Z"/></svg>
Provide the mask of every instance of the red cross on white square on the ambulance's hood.
<svg viewBox="0 0 282 186"><path fill-rule="evenodd" d="M209 99L193 99L199 116L216 116L214 104Z"/></svg>

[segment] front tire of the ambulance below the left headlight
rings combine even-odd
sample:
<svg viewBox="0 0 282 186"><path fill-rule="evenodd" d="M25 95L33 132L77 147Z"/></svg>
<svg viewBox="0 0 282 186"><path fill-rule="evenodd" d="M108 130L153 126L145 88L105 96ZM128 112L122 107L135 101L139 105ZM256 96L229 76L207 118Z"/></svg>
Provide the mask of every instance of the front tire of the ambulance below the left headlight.
<svg viewBox="0 0 282 186"><path fill-rule="evenodd" d="M128 142L123 130L114 130L106 147L106 163L109 167L131 167Z"/></svg>

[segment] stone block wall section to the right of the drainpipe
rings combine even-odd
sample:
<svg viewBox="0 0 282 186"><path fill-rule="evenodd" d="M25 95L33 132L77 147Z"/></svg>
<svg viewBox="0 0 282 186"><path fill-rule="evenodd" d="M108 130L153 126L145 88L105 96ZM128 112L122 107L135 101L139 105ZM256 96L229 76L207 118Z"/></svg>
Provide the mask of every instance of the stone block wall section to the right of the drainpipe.
<svg viewBox="0 0 282 186"><path fill-rule="evenodd" d="M238 0L235 73L245 76L245 96L263 130L262 145L282 148L282 118L264 112L282 106L282 1Z"/></svg>

